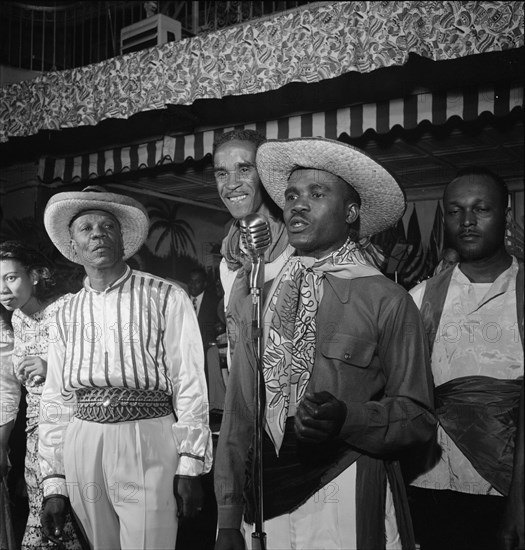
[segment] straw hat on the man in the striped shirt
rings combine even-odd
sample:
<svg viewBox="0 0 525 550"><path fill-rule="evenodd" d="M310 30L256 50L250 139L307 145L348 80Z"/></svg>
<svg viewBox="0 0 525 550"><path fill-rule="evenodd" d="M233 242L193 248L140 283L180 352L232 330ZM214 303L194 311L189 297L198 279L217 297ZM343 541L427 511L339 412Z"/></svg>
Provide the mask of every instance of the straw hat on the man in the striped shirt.
<svg viewBox="0 0 525 550"><path fill-rule="evenodd" d="M53 244L72 262L80 263L71 248L69 226L85 210L102 210L118 220L125 260L137 252L148 236L148 213L140 202L131 197L108 193L99 186L86 187L83 191L57 193L46 205L44 225Z"/></svg>

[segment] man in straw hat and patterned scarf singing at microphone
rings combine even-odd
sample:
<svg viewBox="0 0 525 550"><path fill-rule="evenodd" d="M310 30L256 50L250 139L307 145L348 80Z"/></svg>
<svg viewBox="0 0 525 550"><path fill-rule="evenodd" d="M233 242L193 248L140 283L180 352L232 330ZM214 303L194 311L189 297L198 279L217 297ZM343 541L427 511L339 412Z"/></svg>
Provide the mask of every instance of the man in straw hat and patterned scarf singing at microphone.
<svg viewBox="0 0 525 550"><path fill-rule="evenodd" d="M267 141L257 169L297 251L263 310L268 548L414 548L396 457L435 432L428 349L409 295L356 244L399 220L403 192L361 151L321 138ZM243 312L248 323L249 300ZM254 521L255 369L247 336L217 450L216 550L244 549Z"/></svg>

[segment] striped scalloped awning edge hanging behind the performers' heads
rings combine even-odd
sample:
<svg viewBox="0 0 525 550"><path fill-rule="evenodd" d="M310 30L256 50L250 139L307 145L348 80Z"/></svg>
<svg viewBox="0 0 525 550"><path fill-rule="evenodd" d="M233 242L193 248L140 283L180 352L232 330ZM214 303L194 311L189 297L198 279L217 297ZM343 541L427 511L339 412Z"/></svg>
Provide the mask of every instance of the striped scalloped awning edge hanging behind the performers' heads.
<svg viewBox="0 0 525 550"><path fill-rule="evenodd" d="M465 121L475 120L485 112L504 116L516 108L523 108L523 83L427 92L238 127L259 130L269 139L308 136L337 139L342 134L354 138L367 130L379 134L387 133L396 125L409 130L423 121L444 124L454 116ZM163 164L181 163L188 158L201 160L205 155L211 154L215 138L230 129L231 127L165 136L147 143L77 156L43 157L40 159L38 176L44 183L57 180L72 183Z"/></svg>

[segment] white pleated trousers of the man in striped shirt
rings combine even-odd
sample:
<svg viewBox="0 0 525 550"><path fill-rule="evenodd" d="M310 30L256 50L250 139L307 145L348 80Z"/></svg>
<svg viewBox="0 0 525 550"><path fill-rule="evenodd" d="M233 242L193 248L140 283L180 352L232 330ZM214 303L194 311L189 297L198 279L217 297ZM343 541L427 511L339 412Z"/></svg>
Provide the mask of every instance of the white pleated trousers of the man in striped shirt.
<svg viewBox="0 0 525 550"><path fill-rule="evenodd" d="M173 421L171 415L116 424L75 418L68 426L71 506L95 550L175 548Z"/></svg>

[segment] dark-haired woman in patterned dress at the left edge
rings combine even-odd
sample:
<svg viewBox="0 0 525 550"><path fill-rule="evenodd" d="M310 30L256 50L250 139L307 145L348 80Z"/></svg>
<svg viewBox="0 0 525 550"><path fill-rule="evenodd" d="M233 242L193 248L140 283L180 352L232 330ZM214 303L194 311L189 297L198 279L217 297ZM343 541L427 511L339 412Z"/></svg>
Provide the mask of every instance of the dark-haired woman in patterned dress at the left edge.
<svg viewBox="0 0 525 550"><path fill-rule="evenodd" d="M41 548L40 530L42 475L38 462L38 419L40 397L47 373L48 339L53 337L53 323L59 308L70 295L55 285L53 265L37 250L20 241L0 244L0 303L13 312L13 366L18 383L27 394L25 480L29 498L23 549ZM14 403L15 409L18 403ZM2 438L2 445L5 438ZM5 454L6 449L2 449ZM68 518L60 544L66 549L81 545ZM58 542L58 541L56 541Z"/></svg>

